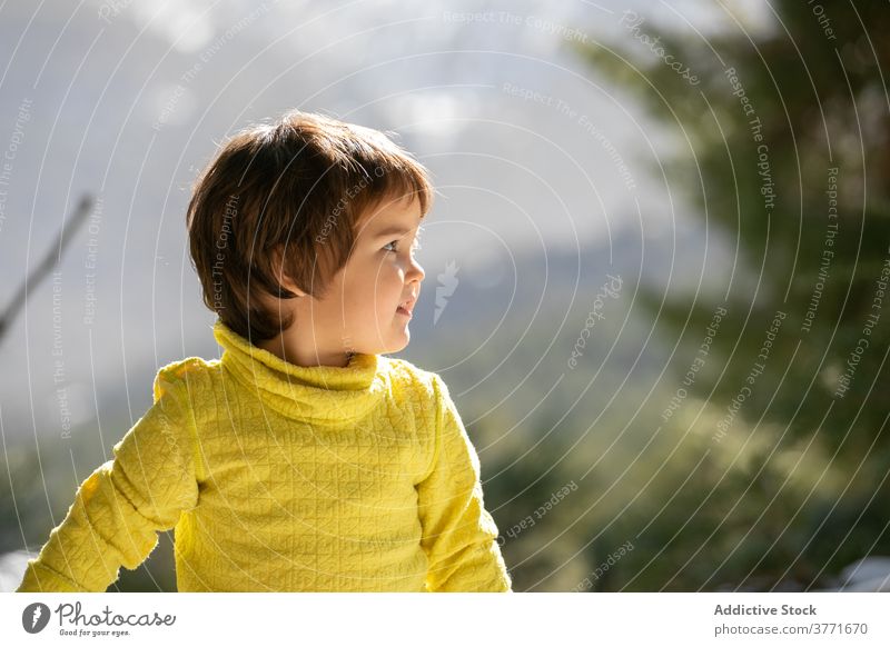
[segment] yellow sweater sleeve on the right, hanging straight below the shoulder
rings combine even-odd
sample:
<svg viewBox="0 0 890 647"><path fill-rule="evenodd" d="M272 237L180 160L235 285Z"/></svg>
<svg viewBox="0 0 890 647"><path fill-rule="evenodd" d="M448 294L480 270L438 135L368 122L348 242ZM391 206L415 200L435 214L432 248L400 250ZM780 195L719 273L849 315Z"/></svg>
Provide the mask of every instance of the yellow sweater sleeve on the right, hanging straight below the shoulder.
<svg viewBox="0 0 890 647"><path fill-rule="evenodd" d="M417 484L429 591L511 591L497 526L484 507L479 459L445 382L437 400L433 464Z"/></svg>

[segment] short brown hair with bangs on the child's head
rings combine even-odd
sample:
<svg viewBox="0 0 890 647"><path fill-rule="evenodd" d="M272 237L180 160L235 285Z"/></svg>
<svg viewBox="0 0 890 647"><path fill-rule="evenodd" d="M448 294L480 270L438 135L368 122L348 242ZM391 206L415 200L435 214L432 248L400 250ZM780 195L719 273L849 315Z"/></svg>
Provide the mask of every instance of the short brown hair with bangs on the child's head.
<svg viewBox="0 0 890 647"><path fill-rule="evenodd" d="M434 189L426 169L378 130L293 111L273 125L240 131L198 178L186 221L204 302L254 342L290 327L263 306L260 295L324 296L346 263L355 226L372 207L402 197L421 201Z"/></svg>

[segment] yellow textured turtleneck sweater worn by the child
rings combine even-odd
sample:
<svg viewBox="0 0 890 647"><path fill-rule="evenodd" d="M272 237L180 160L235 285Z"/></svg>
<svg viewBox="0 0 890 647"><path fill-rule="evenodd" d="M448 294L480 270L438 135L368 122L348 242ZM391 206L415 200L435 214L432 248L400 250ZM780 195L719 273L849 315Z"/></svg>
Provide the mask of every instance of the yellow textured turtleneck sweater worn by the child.
<svg viewBox="0 0 890 647"><path fill-rule="evenodd" d="M180 591L510 591L479 461L442 378L358 354L300 367L217 321L220 359L80 486L19 591L103 591L176 528Z"/></svg>

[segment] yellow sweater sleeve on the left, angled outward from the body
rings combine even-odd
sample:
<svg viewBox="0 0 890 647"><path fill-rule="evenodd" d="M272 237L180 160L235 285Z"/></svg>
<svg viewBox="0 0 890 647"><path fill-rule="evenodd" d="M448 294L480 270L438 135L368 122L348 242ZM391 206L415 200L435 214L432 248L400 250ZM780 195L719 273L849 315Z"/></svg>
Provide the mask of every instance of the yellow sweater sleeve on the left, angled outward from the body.
<svg viewBox="0 0 890 647"><path fill-rule="evenodd" d="M155 379L154 405L113 446L113 459L80 485L62 522L17 591L103 591L120 566L137 568L157 531L176 526L198 500L195 422L186 385L174 370Z"/></svg>

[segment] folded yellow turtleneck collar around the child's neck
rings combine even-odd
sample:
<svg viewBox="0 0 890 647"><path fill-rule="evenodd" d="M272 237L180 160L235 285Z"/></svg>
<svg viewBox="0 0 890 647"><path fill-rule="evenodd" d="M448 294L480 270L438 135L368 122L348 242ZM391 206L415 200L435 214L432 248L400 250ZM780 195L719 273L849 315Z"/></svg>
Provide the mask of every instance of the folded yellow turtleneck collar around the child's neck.
<svg viewBox="0 0 890 647"><path fill-rule="evenodd" d="M345 367L297 366L254 346L217 320L214 337L224 348L220 362L264 405L290 418L350 421L368 414L387 389L385 359L356 354Z"/></svg>

